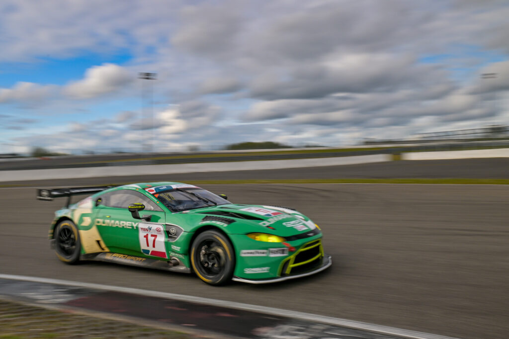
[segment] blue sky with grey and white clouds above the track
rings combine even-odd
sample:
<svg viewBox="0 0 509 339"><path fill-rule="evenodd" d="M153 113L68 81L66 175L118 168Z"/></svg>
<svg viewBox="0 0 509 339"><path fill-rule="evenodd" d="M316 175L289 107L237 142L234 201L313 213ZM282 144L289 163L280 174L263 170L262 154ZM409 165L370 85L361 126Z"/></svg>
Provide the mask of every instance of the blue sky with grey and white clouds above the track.
<svg viewBox="0 0 509 339"><path fill-rule="evenodd" d="M0 153L509 124L508 17L506 0L3 0Z"/></svg>

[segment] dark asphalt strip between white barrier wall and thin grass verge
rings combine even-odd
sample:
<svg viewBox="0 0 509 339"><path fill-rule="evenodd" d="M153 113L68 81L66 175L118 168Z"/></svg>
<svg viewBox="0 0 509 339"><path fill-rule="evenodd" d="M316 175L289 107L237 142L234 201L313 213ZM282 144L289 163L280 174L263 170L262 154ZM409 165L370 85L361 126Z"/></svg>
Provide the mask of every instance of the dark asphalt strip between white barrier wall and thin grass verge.
<svg viewBox="0 0 509 339"><path fill-rule="evenodd" d="M182 173L172 175L152 175L149 177L109 177L83 178L72 181L60 179L37 181L37 185L108 185L140 181L179 181L192 180L278 180L278 179L391 179L391 178L466 178L466 179L509 179L509 158L454 159L454 160L402 160L355 165L285 168L282 170L232 171L208 173ZM317 159L317 166L320 159ZM72 169L69 169L72 172ZM35 178L36 179L36 178ZM2 182L2 171L0 171ZM10 185L29 185L26 181L4 182Z"/></svg>

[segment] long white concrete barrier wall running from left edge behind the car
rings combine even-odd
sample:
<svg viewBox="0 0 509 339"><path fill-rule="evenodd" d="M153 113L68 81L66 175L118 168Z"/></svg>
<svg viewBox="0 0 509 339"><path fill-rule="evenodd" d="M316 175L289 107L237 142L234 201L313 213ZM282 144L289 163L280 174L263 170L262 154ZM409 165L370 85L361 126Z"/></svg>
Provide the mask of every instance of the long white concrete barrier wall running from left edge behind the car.
<svg viewBox="0 0 509 339"><path fill-rule="evenodd" d="M350 165L358 163L383 162L389 160L391 160L391 156L389 154L374 154L354 157L311 158L295 160L206 162L173 165L103 166L87 168L55 168L52 170L0 171L0 182L196 172L274 170L280 168L295 167Z"/></svg>

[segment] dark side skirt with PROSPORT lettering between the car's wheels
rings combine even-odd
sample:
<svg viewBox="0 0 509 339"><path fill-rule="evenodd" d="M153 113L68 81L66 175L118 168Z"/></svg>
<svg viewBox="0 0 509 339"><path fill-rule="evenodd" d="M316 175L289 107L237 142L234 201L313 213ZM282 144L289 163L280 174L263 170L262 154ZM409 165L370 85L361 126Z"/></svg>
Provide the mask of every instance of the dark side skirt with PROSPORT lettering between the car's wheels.
<svg viewBox="0 0 509 339"><path fill-rule="evenodd" d="M172 261L164 261L157 259L148 259L136 256L123 255L120 253L112 252L100 252L100 253L87 253L81 255L80 260L92 260L92 261L105 261L109 263L116 263L129 266L154 268L158 270L191 273L191 269L184 266L184 264L178 259L172 257ZM176 264L176 265L175 265Z"/></svg>

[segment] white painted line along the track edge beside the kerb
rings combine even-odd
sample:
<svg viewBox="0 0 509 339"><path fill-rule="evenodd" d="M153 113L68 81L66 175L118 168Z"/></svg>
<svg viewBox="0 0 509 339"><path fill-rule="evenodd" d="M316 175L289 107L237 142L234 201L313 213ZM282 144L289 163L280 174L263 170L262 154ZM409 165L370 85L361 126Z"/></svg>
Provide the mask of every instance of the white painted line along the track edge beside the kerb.
<svg viewBox="0 0 509 339"><path fill-rule="evenodd" d="M140 290L140 289L134 289L134 288L127 288L127 287L81 283L79 281L40 278L40 277L32 277L32 276L24 276L24 275L0 274L0 278L21 280L21 281L33 281L35 283L67 285L67 286L74 286L74 287L81 287L81 288L104 290L104 291L132 293L132 294L138 294L138 295L144 295L144 296L150 296L150 297L158 297L158 298L164 298L164 299L195 302L195 303L200 303L200 304L204 304L204 305L230 307L230 308L241 309L241 310L246 310L246 311L251 311L251 312L263 313L263 314L267 314L267 315L288 317L288 318L304 320L304 321L313 321L313 322L318 322L318 323L323 323L323 324L328 324L328 325L348 327L348 328L364 330L364 331L369 331L369 332L375 332L375 333L380 333L380 334L397 335L397 336L401 336L401 337L407 338L407 339L455 339L453 337L448 337L448 336L443 336L443 335L417 332L417 331L405 330L405 329L370 324L370 323L363 323L363 322L352 321L352 320L348 320L348 319L332 318L332 317L320 316L320 315L315 315L315 314L310 314L310 313L296 312L296 311L291 311L291 310L286 310L286 309L265 307L265 306L259 306L259 305L250 305L250 304L244 304L244 303L234 302L234 301L209 299L209 298L195 297L195 296L182 295L182 294L157 292L157 291L146 291L146 290Z"/></svg>

